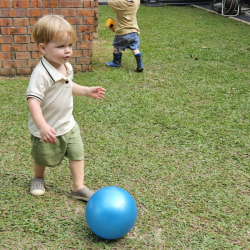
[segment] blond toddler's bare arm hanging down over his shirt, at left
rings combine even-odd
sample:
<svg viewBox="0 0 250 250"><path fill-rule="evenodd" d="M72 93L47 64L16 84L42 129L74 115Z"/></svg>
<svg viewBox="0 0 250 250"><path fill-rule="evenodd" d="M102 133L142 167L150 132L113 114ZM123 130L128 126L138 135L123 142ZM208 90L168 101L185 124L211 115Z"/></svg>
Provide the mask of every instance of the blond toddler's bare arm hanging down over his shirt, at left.
<svg viewBox="0 0 250 250"><path fill-rule="evenodd" d="M40 130L41 138L44 142L53 143L56 141L56 131L51 128L43 117L41 102L35 98L28 98L28 105L32 119Z"/></svg>

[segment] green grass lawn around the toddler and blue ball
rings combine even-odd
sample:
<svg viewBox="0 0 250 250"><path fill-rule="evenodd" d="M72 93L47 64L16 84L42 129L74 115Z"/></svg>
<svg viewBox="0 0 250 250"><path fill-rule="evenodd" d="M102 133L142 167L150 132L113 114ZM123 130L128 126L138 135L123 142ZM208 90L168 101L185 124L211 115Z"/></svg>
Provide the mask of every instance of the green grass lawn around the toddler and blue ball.
<svg viewBox="0 0 250 250"><path fill-rule="evenodd" d="M100 6L93 72L74 77L106 97L76 97L74 116L86 184L129 191L137 222L119 240L95 236L86 204L69 196L67 160L47 170L45 196L29 194L29 78L1 78L0 249L250 249L250 27L188 6L141 6L145 71L135 73L131 51L121 68L105 66L108 16Z"/></svg>

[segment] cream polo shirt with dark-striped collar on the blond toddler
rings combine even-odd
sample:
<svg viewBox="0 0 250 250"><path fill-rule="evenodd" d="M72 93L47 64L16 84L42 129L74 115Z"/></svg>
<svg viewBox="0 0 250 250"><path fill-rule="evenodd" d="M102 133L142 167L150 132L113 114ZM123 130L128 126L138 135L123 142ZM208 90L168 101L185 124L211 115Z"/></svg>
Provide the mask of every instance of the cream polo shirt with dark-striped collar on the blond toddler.
<svg viewBox="0 0 250 250"><path fill-rule="evenodd" d="M57 71L44 57L31 74L27 88L27 99L35 98L41 102L45 121L55 131L56 136L69 132L75 125L73 117L73 68L65 64L67 77ZM41 138L39 129L31 115L28 118L29 132Z"/></svg>

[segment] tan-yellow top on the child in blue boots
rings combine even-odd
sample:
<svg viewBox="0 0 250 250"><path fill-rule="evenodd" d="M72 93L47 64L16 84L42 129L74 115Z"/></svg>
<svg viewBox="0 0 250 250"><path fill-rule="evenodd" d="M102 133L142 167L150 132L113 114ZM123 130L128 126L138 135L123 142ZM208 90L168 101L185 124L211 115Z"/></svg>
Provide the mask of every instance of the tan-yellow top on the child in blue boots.
<svg viewBox="0 0 250 250"><path fill-rule="evenodd" d="M136 32L140 34L136 13L140 7L140 0L134 2L126 0L108 0L108 5L115 12L115 35L122 36Z"/></svg>

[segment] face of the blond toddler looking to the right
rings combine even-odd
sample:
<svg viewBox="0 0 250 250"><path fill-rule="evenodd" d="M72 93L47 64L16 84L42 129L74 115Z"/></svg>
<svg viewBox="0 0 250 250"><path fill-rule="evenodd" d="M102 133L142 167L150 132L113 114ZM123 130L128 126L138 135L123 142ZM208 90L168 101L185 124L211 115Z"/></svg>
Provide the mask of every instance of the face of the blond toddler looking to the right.
<svg viewBox="0 0 250 250"><path fill-rule="evenodd" d="M73 54L72 44L65 44L63 39L55 39L46 45L39 44L46 60L54 67L65 64Z"/></svg>

